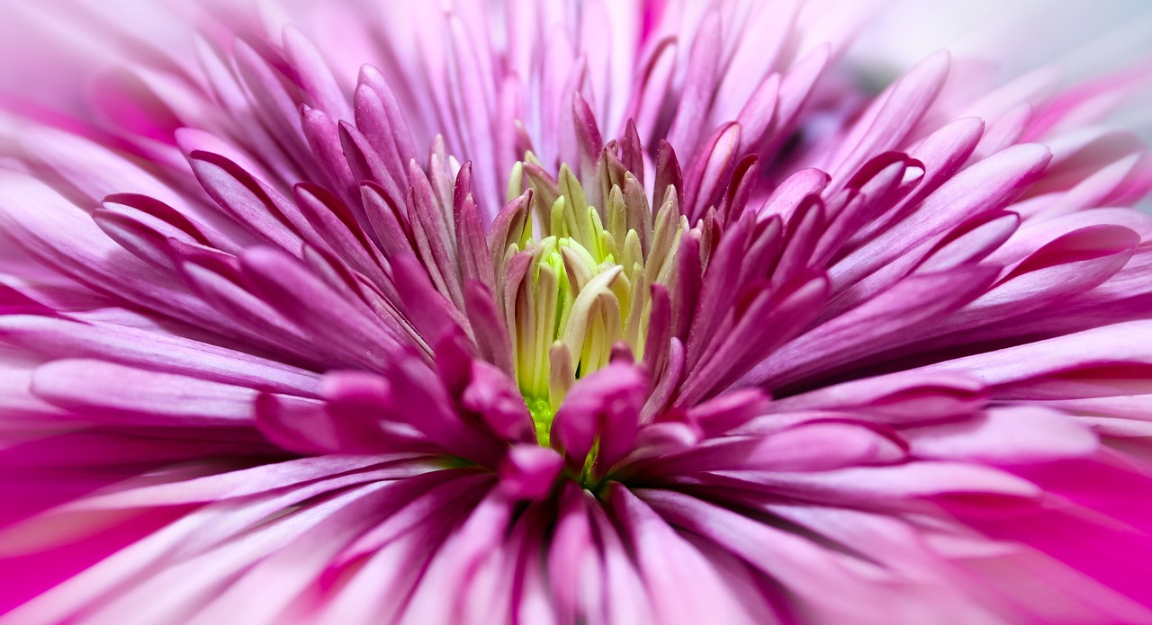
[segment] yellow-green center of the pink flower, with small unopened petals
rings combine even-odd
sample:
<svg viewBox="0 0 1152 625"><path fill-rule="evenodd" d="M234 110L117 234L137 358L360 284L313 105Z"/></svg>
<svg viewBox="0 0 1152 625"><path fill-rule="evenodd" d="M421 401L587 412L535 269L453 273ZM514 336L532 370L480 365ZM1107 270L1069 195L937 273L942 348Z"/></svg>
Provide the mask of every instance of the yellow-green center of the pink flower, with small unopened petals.
<svg viewBox="0 0 1152 625"><path fill-rule="evenodd" d="M688 227L674 189L653 214L631 173L600 169L586 182L599 183L593 199L602 207L567 165L553 180L531 153L513 168L508 186L511 201L526 181L531 206L495 264L497 282L516 386L544 445L577 379L614 357L644 357L651 287L672 282Z"/></svg>

